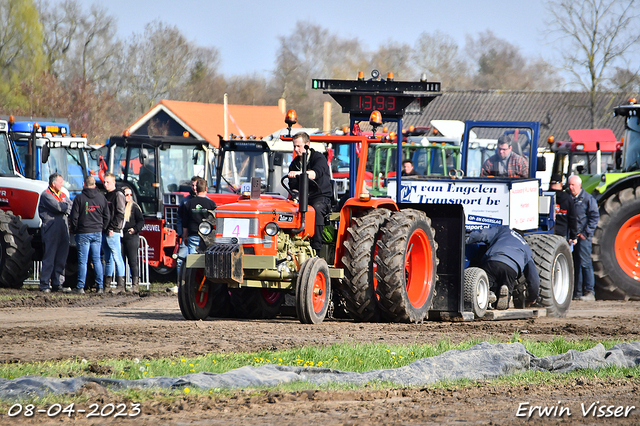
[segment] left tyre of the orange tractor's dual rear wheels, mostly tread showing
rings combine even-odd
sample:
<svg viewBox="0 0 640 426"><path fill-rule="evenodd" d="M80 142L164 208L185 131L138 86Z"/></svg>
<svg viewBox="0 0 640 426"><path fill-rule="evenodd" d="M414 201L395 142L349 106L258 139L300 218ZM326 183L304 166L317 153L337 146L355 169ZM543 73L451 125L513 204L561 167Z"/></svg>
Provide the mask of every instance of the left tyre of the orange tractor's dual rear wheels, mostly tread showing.
<svg viewBox="0 0 640 426"><path fill-rule="evenodd" d="M380 226L390 214L387 209L370 210L353 218L352 225L347 228L342 257L345 267L342 295L349 316L356 321L380 319L376 297L376 243L380 238Z"/></svg>

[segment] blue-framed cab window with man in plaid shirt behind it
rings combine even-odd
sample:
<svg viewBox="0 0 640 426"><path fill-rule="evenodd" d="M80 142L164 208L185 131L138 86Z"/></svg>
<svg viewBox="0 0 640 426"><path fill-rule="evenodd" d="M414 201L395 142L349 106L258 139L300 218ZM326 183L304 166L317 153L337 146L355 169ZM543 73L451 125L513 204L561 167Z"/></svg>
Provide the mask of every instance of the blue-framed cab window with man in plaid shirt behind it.
<svg viewBox="0 0 640 426"><path fill-rule="evenodd" d="M532 134L529 128L472 128L467 142L466 175L529 177Z"/></svg>

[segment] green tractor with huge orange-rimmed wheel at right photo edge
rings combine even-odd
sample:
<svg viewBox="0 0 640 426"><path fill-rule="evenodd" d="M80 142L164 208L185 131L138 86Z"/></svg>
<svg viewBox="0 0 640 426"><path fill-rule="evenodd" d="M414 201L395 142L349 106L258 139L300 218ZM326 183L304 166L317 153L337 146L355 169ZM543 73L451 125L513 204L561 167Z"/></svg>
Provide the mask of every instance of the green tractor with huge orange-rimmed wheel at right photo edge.
<svg viewBox="0 0 640 426"><path fill-rule="evenodd" d="M640 105L614 108L626 120L616 170L584 180L598 202L593 268L598 299L640 300Z"/></svg>

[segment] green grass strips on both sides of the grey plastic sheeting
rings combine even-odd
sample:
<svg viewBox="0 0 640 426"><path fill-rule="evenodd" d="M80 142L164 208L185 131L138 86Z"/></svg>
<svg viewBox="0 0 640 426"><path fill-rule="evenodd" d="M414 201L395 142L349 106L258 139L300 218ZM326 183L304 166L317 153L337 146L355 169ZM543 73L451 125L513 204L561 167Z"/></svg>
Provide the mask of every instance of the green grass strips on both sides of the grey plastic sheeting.
<svg viewBox="0 0 640 426"><path fill-rule="evenodd" d="M569 341L562 337L556 337L549 342L535 342L522 339L517 333L510 339L511 342L520 342L525 348L538 357L556 355L567 352L569 349L583 351L602 343L609 349L622 340L607 340L594 342L588 339ZM493 341L496 342L495 340ZM0 377L13 379L26 375L47 377L75 377L75 376L100 376L115 379L136 380L147 377L181 376L197 372L224 373L243 366L261 366L267 364L332 368L343 371L364 372L385 368L398 368L412 363L421 358L432 357L452 349L464 350L479 343L469 340L460 344L452 344L447 340L439 341L434 345L384 345L375 343L340 343L327 347L304 347L282 351L260 351L255 353L236 354L207 354L193 358L161 358L161 359L108 359L96 362L86 360L46 361L35 363L0 364ZM105 371L106 374L94 374L91 370ZM507 377L491 380L496 385L522 386L536 384L559 384L569 382L578 377L608 378L636 380L640 379L640 367L617 368L604 367L597 370L578 370L566 374L527 371ZM487 381L483 381L482 385ZM457 388L478 386L478 382L472 380L442 381L431 385L432 388ZM395 383L376 382L366 385L367 389L397 388ZM308 389L324 390L356 390L362 387L354 384L329 383L314 385L308 382L295 382L283 384L272 388L254 388L253 392L261 392L265 389L281 392L295 392ZM237 390L229 389L126 389L114 392L119 397L131 401L145 401L149 399L169 400L179 396L191 394L214 395L222 397L232 394ZM249 390L249 392L252 392ZM82 403L86 396L73 395L47 395L43 398L30 398L30 403L36 405L48 405L74 401ZM11 401L0 401L0 413L6 412Z"/></svg>

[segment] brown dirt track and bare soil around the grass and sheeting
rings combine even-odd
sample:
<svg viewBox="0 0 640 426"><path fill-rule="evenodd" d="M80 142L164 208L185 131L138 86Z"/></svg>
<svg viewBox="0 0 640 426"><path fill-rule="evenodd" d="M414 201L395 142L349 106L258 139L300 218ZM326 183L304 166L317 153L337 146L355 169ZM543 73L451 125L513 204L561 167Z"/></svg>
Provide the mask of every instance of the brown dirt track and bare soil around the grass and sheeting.
<svg viewBox="0 0 640 426"><path fill-rule="evenodd" d="M0 300L0 360L29 362L84 358L152 358L193 356L208 352L277 350L338 342L385 344L454 343L469 338L508 341L515 332L529 339L640 340L640 302L573 302L567 318L528 320L361 324L329 320L302 325L295 318L276 320L185 321L173 293L132 295L42 295L30 290L0 290L25 295ZM84 389L98 403L118 402L96 387ZM561 401L559 404L558 401ZM598 402L599 401L599 402ZM128 401L120 401L130 403ZM640 424L640 378L596 379L585 375L562 385L498 386L480 382L464 389L389 389L278 393L236 391L230 397L185 396L142 405L136 424L494 424L526 421L516 416L524 403L565 407L562 417L536 411L531 424ZM627 417L586 417L581 405L636 406ZM40 408L40 407L38 407ZM560 408L556 412L560 412ZM567 414L567 409L571 415ZM521 411L522 413L523 411ZM525 410L524 412L527 412ZM614 412L614 411L612 411ZM606 409L604 411L606 414ZM615 413L615 412L614 412ZM56 423L69 419L36 415L9 418L0 424ZM75 424L111 424L114 418L75 416ZM119 420L120 421L120 420Z"/></svg>

